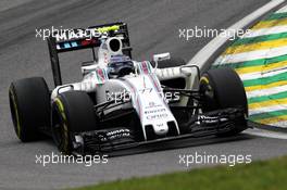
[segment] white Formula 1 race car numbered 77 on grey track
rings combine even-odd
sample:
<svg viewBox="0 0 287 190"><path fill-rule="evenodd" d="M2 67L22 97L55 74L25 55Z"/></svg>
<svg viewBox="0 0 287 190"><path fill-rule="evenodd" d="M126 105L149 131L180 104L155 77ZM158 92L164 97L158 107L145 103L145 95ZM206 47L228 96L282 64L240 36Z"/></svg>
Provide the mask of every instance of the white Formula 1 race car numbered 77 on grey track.
<svg viewBox="0 0 287 190"><path fill-rule="evenodd" d="M97 154L247 129L246 92L233 69L201 75L170 53L134 61L125 23L68 33L48 39L52 91L42 77L11 84L12 119L23 142L49 135L64 154ZM82 81L63 85L59 54L82 49L93 60L82 64Z"/></svg>

